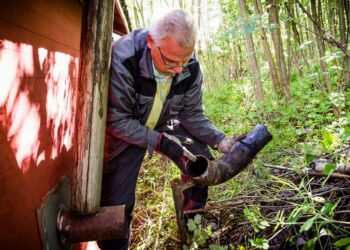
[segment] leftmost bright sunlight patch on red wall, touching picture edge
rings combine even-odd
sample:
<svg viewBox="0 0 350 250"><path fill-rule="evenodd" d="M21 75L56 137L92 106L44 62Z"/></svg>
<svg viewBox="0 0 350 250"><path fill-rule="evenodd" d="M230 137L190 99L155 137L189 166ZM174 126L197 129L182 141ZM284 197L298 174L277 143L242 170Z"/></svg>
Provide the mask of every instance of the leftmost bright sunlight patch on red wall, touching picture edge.
<svg viewBox="0 0 350 250"><path fill-rule="evenodd" d="M28 169L28 156L38 151L38 106L28 98L28 91L20 91L21 77L33 74L33 47L2 42L0 50L0 105L6 107L2 126L7 130L8 142L14 152L18 166L23 172ZM30 131L30 133L28 132ZM14 136L15 135L15 136Z"/></svg>

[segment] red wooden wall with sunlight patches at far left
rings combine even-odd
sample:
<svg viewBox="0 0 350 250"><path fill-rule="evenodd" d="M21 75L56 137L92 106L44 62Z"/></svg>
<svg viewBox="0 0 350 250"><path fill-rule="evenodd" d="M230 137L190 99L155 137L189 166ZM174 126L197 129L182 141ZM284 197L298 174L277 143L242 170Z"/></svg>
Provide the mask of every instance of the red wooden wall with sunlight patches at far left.
<svg viewBox="0 0 350 250"><path fill-rule="evenodd" d="M73 166L82 6L0 0L0 249L41 249L36 205Z"/></svg>

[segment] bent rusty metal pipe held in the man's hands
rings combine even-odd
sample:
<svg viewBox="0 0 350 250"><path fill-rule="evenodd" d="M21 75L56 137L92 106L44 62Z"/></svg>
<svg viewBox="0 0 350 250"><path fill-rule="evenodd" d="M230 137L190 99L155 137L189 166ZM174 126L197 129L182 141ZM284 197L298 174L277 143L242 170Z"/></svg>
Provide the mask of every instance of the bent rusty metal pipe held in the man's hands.
<svg viewBox="0 0 350 250"><path fill-rule="evenodd" d="M189 161L187 174L199 186L221 184L241 172L271 139L272 135L267 128L258 124L219 159L209 161L205 156L197 156L197 161Z"/></svg>

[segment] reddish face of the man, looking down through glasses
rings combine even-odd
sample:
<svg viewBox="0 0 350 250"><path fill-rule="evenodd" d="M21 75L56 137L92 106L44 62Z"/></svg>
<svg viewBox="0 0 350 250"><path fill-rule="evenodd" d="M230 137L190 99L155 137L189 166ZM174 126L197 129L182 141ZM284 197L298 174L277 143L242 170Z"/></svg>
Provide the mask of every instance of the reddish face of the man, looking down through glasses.
<svg viewBox="0 0 350 250"><path fill-rule="evenodd" d="M175 39L167 37L156 44L148 34L147 46L157 70L165 75L180 73L192 57L194 45L188 48L180 47Z"/></svg>

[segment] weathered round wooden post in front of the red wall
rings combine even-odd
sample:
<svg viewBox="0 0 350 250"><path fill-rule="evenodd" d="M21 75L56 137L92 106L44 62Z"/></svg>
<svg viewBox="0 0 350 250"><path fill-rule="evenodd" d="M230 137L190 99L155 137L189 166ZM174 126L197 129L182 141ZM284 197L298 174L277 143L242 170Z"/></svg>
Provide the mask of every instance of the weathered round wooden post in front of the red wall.
<svg viewBox="0 0 350 250"><path fill-rule="evenodd" d="M100 209L114 0L84 1L71 212Z"/></svg>

